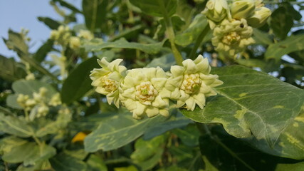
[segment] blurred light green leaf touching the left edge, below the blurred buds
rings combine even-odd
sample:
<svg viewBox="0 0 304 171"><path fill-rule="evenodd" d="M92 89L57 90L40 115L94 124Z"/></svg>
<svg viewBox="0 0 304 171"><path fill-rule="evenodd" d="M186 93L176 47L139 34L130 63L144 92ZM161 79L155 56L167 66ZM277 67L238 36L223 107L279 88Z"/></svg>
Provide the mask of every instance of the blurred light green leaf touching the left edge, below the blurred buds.
<svg viewBox="0 0 304 171"><path fill-rule="evenodd" d="M33 135L33 129L24 118L0 113L0 130L4 133L28 138Z"/></svg>

